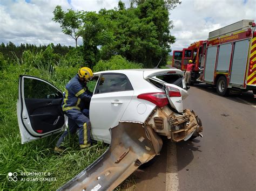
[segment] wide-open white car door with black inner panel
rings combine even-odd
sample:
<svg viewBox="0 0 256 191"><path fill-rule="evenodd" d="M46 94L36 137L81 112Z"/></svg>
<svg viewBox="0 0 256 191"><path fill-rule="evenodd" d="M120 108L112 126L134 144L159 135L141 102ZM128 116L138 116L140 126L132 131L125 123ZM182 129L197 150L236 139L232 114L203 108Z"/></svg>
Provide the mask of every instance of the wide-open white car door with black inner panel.
<svg viewBox="0 0 256 191"><path fill-rule="evenodd" d="M62 100L62 92L51 83L19 76L17 117L22 144L63 130Z"/></svg>

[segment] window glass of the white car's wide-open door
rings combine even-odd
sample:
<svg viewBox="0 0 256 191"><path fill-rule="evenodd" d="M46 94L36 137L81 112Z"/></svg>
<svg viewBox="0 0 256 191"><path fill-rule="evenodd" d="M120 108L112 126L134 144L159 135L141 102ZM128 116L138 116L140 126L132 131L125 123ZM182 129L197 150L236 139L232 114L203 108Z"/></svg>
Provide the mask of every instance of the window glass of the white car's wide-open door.
<svg viewBox="0 0 256 191"><path fill-rule="evenodd" d="M56 88L41 80L24 78L24 98L58 99L63 95Z"/></svg>

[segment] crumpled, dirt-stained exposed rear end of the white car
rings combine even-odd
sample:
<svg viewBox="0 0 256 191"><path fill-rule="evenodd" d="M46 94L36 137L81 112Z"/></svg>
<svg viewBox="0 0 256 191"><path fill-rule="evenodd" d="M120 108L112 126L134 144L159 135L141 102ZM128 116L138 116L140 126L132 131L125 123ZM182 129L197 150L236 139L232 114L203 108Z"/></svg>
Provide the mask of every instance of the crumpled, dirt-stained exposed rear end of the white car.
<svg viewBox="0 0 256 191"><path fill-rule="evenodd" d="M201 120L193 110L185 109L182 114L177 114L169 107L156 108L145 123L172 142L188 140L192 136L203 137Z"/></svg>

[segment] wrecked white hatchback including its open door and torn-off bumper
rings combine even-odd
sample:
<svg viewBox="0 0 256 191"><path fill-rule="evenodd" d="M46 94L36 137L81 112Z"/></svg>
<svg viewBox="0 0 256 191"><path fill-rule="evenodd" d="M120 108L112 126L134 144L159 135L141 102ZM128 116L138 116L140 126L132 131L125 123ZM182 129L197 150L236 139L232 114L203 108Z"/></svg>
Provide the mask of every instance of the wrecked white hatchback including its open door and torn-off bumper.
<svg viewBox="0 0 256 191"><path fill-rule="evenodd" d="M108 150L59 190L112 190L160 153L163 142L203 137L198 116L183 108L188 96L179 69L95 73L90 103L92 138ZM63 130L62 93L49 82L20 76L17 114L22 143Z"/></svg>

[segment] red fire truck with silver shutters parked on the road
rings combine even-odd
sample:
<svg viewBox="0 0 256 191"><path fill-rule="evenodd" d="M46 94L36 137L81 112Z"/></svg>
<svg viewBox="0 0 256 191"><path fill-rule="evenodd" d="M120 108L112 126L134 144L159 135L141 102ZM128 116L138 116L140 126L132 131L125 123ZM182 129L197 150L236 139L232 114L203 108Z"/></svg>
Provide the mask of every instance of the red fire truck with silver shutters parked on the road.
<svg viewBox="0 0 256 191"><path fill-rule="evenodd" d="M172 66L186 70L195 64L190 83L216 86L221 96L253 90L256 94L256 31L254 20L225 26L182 51L173 51Z"/></svg>

